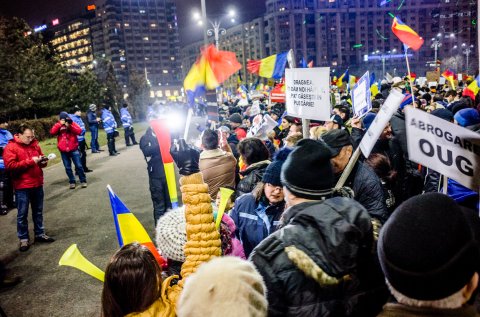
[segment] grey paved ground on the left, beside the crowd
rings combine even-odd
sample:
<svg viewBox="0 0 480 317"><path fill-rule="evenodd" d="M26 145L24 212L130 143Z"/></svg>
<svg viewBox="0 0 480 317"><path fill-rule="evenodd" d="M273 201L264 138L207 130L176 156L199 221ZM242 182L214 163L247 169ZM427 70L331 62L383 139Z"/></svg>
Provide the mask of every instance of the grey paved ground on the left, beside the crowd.
<svg viewBox="0 0 480 317"><path fill-rule="evenodd" d="M198 135L192 121L191 136ZM140 135L137 136L140 139ZM13 257L8 268L23 278L15 288L0 293L0 306L9 317L99 316L102 283L77 269L58 266L63 252L73 243L102 270L118 249L110 202L110 184L135 213L153 238L153 213L146 163L138 146L125 147L117 139L121 155L107 151L90 154L88 188L68 189L62 164L45 170L44 222L47 234L57 241L35 244L24 253L17 251L16 210L0 217L0 258ZM30 218L30 217L29 217ZM30 220L33 237L33 224Z"/></svg>

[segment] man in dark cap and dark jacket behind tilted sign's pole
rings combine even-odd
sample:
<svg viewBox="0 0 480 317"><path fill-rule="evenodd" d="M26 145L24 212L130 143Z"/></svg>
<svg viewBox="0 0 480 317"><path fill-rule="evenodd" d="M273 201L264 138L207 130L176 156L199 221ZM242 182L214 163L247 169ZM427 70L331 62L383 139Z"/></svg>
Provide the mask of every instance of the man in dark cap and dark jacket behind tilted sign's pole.
<svg viewBox="0 0 480 317"><path fill-rule="evenodd" d="M331 130L322 135L322 140L332 150L332 168L337 180L342 175L353 154L353 145L345 130ZM375 172L363 162L358 161L345 186L353 189L355 200L363 205L370 216L381 223L387 221L388 212L383 197L382 183Z"/></svg>

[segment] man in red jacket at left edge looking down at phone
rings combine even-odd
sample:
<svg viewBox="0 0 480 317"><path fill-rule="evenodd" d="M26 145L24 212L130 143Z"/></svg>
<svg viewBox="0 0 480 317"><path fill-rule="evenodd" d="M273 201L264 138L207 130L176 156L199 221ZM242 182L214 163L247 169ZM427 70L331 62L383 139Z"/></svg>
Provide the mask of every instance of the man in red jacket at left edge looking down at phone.
<svg viewBox="0 0 480 317"><path fill-rule="evenodd" d="M33 129L21 125L3 151L5 169L10 173L17 200L17 236L20 251L30 247L28 237L28 205L32 207L35 242L53 242L43 227L43 171L48 158L43 155Z"/></svg>

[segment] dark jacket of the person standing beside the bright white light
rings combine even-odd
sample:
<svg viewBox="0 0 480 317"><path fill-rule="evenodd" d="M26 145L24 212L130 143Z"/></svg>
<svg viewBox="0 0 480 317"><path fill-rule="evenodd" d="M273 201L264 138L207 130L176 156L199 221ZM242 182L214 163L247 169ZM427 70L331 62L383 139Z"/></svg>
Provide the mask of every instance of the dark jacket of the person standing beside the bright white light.
<svg viewBox="0 0 480 317"><path fill-rule="evenodd" d="M149 127L140 138L140 150L142 150L147 161L148 176L165 179L165 168L163 166L162 154L158 145L157 136Z"/></svg>

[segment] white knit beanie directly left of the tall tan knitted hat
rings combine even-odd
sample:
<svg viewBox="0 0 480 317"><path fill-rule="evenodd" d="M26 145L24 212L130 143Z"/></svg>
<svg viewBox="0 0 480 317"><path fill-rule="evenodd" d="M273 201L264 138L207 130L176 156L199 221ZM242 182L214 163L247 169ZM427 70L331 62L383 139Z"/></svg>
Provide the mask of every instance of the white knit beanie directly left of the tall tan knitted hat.
<svg viewBox="0 0 480 317"><path fill-rule="evenodd" d="M157 249L167 259L185 262L183 247L187 243L185 208L167 211L157 222Z"/></svg>

